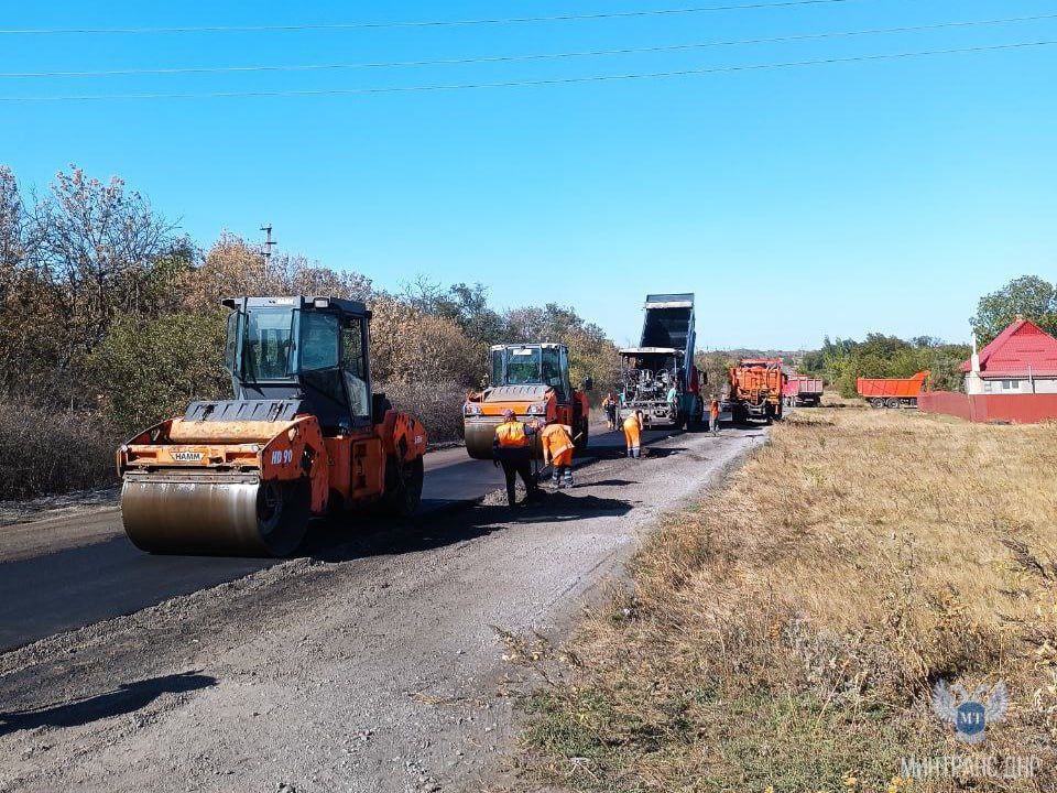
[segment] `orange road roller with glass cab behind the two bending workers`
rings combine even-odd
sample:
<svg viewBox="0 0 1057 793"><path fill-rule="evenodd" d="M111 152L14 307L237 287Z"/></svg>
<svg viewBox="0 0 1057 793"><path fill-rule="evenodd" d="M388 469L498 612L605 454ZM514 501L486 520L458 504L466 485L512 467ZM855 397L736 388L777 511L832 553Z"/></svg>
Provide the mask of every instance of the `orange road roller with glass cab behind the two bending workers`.
<svg viewBox="0 0 1057 793"><path fill-rule="evenodd" d="M489 350L489 387L462 405L466 450L473 459L492 458L495 427L512 410L522 421L560 422L573 427L578 452L587 448L590 408L588 378L581 388L569 379L569 350L560 344L495 345ZM537 454L542 454L536 449Z"/></svg>

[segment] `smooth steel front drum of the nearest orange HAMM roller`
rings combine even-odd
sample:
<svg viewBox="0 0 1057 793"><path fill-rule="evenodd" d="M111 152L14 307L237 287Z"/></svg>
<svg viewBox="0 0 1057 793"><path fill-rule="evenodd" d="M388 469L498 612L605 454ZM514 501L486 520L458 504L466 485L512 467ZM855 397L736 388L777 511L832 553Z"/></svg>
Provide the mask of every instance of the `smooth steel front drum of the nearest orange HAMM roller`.
<svg viewBox="0 0 1057 793"><path fill-rule="evenodd" d="M121 488L124 531L150 553L286 556L309 517L307 481L152 472L127 474Z"/></svg>

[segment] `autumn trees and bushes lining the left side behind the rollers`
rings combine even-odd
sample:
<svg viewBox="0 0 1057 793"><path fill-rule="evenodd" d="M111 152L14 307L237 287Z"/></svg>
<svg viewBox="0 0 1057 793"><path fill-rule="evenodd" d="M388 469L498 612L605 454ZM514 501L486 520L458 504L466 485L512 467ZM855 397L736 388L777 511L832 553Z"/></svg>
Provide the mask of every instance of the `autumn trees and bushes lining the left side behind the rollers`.
<svg viewBox="0 0 1057 793"><path fill-rule="evenodd" d="M565 343L576 382L614 387L615 345L574 308L497 311L480 284L391 293L293 253L265 265L232 233L199 246L117 177L72 166L36 195L0 165L0 499L107 484L121 441L194 399L230 395L219 301L266 294L364 301L375 389L433 441L461 432L491 344Z"/></svg>

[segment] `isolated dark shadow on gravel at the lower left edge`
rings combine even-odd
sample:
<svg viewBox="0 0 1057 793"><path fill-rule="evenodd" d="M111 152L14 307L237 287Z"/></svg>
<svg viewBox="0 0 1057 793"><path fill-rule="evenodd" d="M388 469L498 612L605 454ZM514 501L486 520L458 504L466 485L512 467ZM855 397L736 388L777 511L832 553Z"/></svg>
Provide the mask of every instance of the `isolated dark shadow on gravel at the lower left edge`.
<svg viewBox="0 0 1057 793"><path fill-rule="evenodd" d="M195 672L123 683L117 691L75 703L53 705L37 710L0 713L0 736L34 727L78 727L110 716L133 713L162 694L182 694L208 688L216 684L216 677Z"/></svg>

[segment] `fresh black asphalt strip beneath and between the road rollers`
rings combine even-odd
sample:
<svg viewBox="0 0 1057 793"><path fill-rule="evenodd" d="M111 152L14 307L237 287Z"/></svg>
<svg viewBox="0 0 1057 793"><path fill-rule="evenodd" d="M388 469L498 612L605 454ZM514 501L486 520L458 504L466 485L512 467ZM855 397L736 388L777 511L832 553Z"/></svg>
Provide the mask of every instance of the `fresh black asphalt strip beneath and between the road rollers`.
<svg viewBox="0 0 1057 793"><path fill-rule="evenodd" d="M669 437L674 431L651 431L643 435L649 446ZM623 435L618 432L595 435L587 456L576 465L588 465L600 457L622 454ZM416 523L453 507L473 501L503 487L502 471L490 461L471 460L462 448L434 452L426 456L423 502ZM128 615L178 595L187 595L249 573L269 567L274 560L209 556L153 556L139 551L121 531L118 510L107 513L115 535L83 547L46 553L31 558L0 563L0 652L74 630L103 619ZM83 521L72 515L66 524ZM99 520L98 515L94 520ZM380 526L375 519L364 521L361 532ZM349 531L357 531L352 523ZM324 551L328 542L347 539L335 530L315 530L308 539L309 553ZM0 547L3 530L0 529Z"/></svg>

